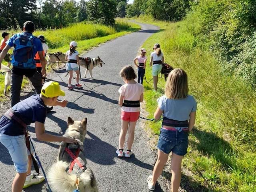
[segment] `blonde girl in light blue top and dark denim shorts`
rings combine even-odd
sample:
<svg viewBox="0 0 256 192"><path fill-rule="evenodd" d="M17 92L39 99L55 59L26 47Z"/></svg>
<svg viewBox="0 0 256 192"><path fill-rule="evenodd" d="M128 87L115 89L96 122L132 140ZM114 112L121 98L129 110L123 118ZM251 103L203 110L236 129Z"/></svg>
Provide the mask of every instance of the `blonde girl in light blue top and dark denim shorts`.
<svg viewBox="0 0 256 192"><path fill-rule="evenodd" d="M188 95L188 77L182 69L176 68L170 72L165 94L158 98L154 118L158 120L162 115L164 119L158 140L158 158L153 175L147 179L148 188L155 189L156 181L172 152L172 192L178 192L181 162L188 148L188 133L196 120L196 101Z"/></svg>

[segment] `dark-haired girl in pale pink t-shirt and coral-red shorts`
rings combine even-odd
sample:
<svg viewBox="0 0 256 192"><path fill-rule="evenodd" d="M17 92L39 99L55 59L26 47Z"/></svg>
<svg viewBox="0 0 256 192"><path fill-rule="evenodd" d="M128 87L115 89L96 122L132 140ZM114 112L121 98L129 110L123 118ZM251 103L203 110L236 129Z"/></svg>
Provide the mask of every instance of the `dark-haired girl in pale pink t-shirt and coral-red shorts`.
<svg viewBox="0 0 256 192"><path fill-rule="evenodd" d="M143 101L144 88L142 84L136 83L136 74L132 66L125 66L120 71L120 76L125 84L118 90L120 93L118 104L122 107L122 129L119 136L119 149L116 150L116 153L118 157L130 157L132 155L131 148L134 141L134 129L140 116L140 102ZM129 132L127 150L123 154L127 130Z"/></svg>

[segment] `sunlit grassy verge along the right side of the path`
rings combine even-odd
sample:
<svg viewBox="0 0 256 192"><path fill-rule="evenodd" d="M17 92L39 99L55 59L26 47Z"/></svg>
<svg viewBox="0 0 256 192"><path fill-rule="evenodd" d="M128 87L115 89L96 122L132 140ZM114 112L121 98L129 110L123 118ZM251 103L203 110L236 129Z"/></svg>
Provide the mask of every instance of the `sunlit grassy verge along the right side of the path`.
<svg viewBox="0 0 256 192"><path fill-rule="evenodd" d="M189 94L198 102L196 126L189 136L188 154L183 160L182 187L187 191L256 191L256 95L243 80L225 76L220 64L203 42L196 42L186 20L178 23L137 19L160 26L143 45L148 51L160 43L167 63L188 74ZM147 64L150 80L152 68ZM164 94L164 79L158 92L144 82L148 118L153 118L156 99ZM157 137L160 122L147 126Z"/></svg>

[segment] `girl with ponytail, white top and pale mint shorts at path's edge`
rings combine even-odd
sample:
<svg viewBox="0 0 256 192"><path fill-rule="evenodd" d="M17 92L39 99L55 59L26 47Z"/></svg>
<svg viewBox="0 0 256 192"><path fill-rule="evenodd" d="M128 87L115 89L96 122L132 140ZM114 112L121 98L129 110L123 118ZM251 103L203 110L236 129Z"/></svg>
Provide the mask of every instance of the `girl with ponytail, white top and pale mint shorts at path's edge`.
<svg viewBox="0 0 256 192"><path fill-rule="evenodd" d="M154 83L154 90L157 90L157 84L158 84L158 74L162 70L162 63L164 63L164 54L160 49L160 44L154 44L153 48L154 52L150 55L150 64L152 68L152 75L153 75L153 83Z"/></svg>

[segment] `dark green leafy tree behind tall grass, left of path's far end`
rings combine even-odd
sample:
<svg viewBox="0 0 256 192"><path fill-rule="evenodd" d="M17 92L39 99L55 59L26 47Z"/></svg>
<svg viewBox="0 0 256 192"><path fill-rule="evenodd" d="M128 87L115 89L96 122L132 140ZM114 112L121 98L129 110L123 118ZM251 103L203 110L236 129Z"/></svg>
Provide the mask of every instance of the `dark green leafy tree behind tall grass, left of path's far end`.
<svg viewBox="0 0 256 192"><path fill-rule="evenodd" d="M88 19L94 22L113 25L116 17L115 0L90 0L87 3Z"/></svg>

